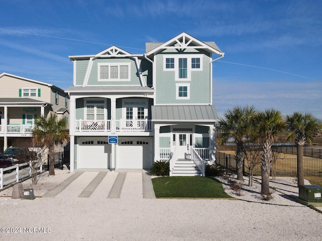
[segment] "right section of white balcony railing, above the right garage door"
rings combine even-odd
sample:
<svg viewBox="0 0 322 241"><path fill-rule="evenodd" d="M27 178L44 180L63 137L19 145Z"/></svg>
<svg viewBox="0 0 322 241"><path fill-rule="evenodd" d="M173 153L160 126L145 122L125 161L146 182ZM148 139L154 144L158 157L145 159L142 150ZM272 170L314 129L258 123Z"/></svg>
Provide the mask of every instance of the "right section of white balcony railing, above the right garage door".
<svg viewBox="0 0 322 241"><path fill-rule="evenodd" d="M115 121L117 132L151 132L153 131L152 122L149 119L128 120L119 119Z"/></svg>

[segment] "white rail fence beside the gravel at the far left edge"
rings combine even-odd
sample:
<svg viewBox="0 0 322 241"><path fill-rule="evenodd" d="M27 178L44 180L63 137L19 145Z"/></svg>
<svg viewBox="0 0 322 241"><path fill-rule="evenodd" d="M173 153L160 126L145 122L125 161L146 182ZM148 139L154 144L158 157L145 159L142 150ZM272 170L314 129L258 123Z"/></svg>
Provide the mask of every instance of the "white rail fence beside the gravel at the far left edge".
<svg viewBox="0 0 322 241"><path fill-rule="evenodd" d="M24 168L25 167L25 168ZM11 171L4 175L4 172ZM42 172L42 164L39 166L37 173ZM4 186L7 186L14 182L19 182L19 180L31 177L31 167L29 163L16 164L12 167L0 168L0 189L3 189Z"/></svg>

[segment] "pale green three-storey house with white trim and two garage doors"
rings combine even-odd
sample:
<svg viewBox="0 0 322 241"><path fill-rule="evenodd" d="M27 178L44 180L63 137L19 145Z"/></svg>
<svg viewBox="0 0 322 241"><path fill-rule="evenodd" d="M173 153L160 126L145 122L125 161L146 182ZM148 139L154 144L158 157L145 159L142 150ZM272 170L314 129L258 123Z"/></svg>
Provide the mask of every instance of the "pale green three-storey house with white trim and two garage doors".
<svg viewBox="0 0 322 241"><path fill-rule="evenodd" d="M69 56L70 171L167 160L172 176L204 175L216 151L212 64L223 55L214 42L182 33L146 43L144 54L112 46Z"/></svg>

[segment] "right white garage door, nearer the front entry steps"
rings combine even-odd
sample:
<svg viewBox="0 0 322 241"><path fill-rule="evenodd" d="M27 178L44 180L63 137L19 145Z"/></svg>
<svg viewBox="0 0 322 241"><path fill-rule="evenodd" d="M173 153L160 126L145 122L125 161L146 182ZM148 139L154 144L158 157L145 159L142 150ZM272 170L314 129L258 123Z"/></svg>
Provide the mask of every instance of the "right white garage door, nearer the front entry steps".
<svg viewBox="0 0 322 241"><path fill-rule="evenodd" d="M145 169L151 166L150 141L119 141L117 169Z"/></svg>

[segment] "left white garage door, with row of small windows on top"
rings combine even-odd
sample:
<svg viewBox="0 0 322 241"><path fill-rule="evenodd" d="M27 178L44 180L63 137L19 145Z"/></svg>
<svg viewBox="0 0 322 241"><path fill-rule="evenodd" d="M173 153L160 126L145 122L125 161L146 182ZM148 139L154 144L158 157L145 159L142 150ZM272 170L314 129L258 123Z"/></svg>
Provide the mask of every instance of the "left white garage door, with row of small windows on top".
<svg viewBox="0 0 322 241"><path fill-rule="evenodd" d="M78 168L107 169L111 147L106 141L90 140L79 143Z"/></svg>

